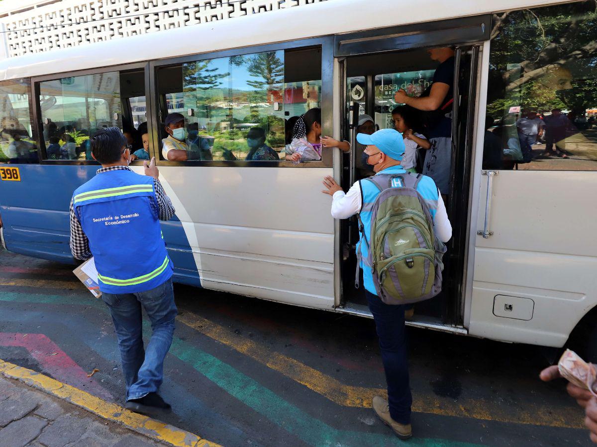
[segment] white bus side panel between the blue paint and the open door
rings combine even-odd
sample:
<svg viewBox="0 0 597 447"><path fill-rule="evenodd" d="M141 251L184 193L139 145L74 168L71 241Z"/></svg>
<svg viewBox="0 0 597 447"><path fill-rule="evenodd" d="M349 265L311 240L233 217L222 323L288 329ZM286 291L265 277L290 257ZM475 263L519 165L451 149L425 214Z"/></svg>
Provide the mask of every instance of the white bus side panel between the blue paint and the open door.
<svg viewBox="0 0 597 447"><path fill-rule="evenodd" d="M279 302L334 305L326 168L160 166L201 285Z"/></svg>

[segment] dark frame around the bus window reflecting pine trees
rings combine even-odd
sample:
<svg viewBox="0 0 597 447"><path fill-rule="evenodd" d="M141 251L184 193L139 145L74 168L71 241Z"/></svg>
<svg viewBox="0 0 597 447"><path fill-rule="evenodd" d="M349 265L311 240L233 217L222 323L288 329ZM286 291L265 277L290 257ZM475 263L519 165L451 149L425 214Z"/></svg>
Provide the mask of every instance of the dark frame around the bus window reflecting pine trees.
<svg viewBox="0 0 597 447"><path fill-rule="evenodd" d="M238 56L243 54L256 54L267 51L278 51L286 49L306 49L309 47L321 48L321 120L322 128L325 131L322 135L333 135L333 83L334 83L334 36L322 36L319 38L300 39L298 41L279 42L276 44L253 45L244 46L242 48L226 49L223 51L211 51L204 53L190 54L186 56L173 57L169 59L154 60L149 62L149 78L152 86L150 109L147 114L147 125L150 129L150 143L154 148L160 147L160 139L158 134L158 83L157 70L159 67L176 65L188 62L201 61L205 59L216 59L230 56ZM159 150L158 150L159 151ZM293 163L287 160L276 161L251 161L244 160L217 160L217 161L200 161L190 160L187 162L170 162L169 160L161 160L159 153L155 155L156 164L158 166L213 166L213 167L333 167L333 152L334 150L324 150L320 161Z"/></svg>

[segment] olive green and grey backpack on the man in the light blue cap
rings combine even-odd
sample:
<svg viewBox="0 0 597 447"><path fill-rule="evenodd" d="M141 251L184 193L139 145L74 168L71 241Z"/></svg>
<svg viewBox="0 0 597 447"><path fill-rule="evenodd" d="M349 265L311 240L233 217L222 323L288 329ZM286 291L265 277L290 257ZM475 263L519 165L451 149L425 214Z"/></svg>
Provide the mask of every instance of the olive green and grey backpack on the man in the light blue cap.
<svg viewBox="0 0 597 447"><path fill-rule="evenodd" d="M420 174L381 174L365 179L380 193L371 209L370 241L359 215L359 231L367 246L365 268L373 273L380 299L390 305L417 303L442 290L444 243L435 237L429 206L417 191ZM401 179L404 186L393 187ZM359 287L361 250L357 254L356 287Z"/></svg>

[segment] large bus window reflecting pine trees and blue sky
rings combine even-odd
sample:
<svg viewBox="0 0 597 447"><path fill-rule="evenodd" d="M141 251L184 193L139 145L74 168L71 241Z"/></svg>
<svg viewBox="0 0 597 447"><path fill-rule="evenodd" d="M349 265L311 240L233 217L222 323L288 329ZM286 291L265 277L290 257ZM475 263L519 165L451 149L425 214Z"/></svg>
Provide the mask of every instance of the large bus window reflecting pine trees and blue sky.
<svg viewBox="0 0 597 447"><path fill-rule="evenodd" d="M288 120L321 107L321 49L174 64L157 80L162 160L280 162Z"/></svg>

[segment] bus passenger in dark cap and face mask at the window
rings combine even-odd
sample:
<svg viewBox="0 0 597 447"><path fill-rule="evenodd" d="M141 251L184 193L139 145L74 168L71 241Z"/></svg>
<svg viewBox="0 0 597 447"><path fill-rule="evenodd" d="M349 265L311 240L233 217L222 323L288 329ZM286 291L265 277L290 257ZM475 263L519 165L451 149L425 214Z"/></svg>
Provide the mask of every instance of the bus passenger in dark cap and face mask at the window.
<svg viewBox="0 0 597 447"><path fill-rule="evenodd" d="M186 162L186 160L213 160L210 147L204 147L207 141L202 141L201 150L189 141L189 132L184 127L184 116L180 113L169 113L164 122L168 137L162 139L162 155L170 162Z"/></svg>

